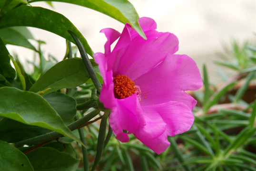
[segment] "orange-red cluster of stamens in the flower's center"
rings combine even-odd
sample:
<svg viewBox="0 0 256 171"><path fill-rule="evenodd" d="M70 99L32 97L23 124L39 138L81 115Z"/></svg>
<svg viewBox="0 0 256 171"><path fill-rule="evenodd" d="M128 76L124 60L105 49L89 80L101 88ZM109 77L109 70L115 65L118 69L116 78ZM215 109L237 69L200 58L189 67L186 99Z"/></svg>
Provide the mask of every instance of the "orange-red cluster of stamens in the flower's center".
<svg viewBox="0 0 256 171"><path fill-rule="evenodd" d="M138 95L138 86L128 76L118 74L118 76L114 77L114 94L116 98L126 98L134 93Z"/></svg>

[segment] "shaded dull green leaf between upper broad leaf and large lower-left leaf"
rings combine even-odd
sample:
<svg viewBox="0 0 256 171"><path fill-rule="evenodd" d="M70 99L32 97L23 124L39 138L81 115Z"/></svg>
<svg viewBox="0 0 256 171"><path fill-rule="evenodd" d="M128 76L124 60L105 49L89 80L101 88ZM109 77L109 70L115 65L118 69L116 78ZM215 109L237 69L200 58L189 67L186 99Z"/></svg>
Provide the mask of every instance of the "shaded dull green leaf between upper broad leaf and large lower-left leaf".
<svg viewBox="0 0 256 171"><path fill-rule="evenodd" d="M44 99L59 114L66 125L72 122L77 113L75 99L62 93L51 93L45 95Z"/></svg>

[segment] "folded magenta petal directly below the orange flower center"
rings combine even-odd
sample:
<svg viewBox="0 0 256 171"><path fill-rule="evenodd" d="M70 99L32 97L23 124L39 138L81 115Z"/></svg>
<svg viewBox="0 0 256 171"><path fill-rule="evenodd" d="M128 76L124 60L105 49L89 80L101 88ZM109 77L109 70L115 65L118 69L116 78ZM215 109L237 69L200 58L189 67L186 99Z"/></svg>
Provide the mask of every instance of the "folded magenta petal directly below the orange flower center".
<svg viewBox="0 0 256 171"><path fill-rule="evenodd" d="M117 99L117 106L111 109L109 124L119 141L128 141L123 130L133 133L138 127L145 125L141 116L142 111L136 94Z"/></svg>

